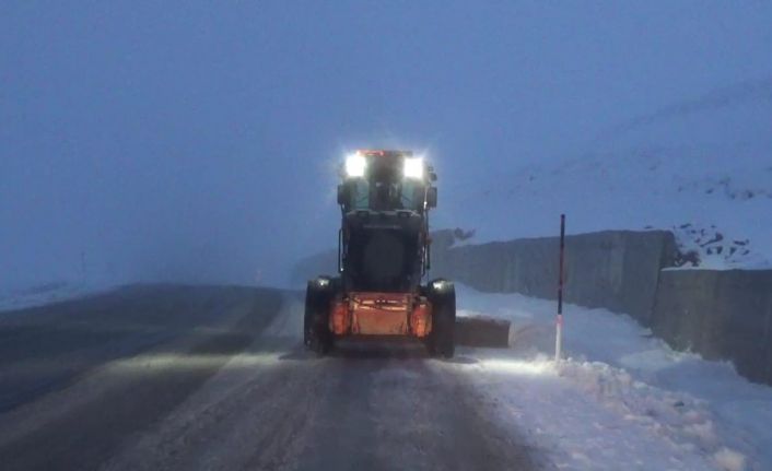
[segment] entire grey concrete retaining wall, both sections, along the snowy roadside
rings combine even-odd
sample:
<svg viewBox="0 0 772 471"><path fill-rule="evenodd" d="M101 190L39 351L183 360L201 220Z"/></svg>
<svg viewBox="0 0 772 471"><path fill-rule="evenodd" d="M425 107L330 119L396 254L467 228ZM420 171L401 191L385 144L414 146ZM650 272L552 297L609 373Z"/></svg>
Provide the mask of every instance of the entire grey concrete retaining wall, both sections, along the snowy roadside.
<svg viewBox="0 0 772 471"><path fill-rule="evenodd" d="M440 240L433 274L557 297L557 237L458 248ZM732 361L742 376L772 385L772 270L667 270L677 257L668 232L566 237L565 299L630 314L674 349Z"/></svg>

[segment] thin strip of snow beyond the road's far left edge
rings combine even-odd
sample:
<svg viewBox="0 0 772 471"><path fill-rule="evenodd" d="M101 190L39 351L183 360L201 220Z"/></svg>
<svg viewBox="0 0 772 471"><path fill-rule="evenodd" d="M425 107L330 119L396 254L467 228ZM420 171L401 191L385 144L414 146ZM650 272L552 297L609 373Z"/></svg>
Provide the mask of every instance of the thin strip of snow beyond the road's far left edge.
<svg viewBox="0 0 772 471"><path fill-rule="evenodd" d="M112 282L52 282L25 289L0 290L0 313L44 306L62 301L77 299L110 291L118 285Z"/></svg>

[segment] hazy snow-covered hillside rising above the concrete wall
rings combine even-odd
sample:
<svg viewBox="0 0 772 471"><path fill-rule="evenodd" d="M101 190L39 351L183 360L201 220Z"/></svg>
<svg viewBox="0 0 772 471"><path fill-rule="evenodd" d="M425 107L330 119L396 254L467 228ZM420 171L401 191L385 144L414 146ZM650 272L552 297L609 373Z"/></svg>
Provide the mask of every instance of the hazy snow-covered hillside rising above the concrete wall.
<svg viewBox="0 0 772 471"><path fill-rule="evenodd" d="M562 157L451 181L436 220L467 243L568 231L670 229L686 267L772 267L772 80L633 117ZM534 161L531 156L530 161ZM539 163L542 162L542 163Z"/></svg>

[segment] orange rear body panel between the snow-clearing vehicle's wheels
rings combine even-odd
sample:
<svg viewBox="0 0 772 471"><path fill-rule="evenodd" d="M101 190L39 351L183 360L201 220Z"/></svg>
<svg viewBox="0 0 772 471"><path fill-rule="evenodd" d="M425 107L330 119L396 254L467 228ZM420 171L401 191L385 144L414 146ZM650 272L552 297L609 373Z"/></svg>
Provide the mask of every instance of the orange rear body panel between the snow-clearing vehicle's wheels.
<svg viewBox="0 0 772 471"><path fill-rule="evenodd" d="M353 292L332 301L329 329L336 335L410 335L432 331L432 307L412 293Z"/></svg>

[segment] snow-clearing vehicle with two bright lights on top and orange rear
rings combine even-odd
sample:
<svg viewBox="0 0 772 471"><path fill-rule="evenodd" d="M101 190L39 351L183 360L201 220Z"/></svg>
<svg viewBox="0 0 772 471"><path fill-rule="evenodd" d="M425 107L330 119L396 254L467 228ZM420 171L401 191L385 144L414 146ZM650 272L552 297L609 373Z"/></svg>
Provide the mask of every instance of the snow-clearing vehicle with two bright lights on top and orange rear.
<svg viewBox="0 0 772 471"><path fill-rule="evenodd" d="M422 283L431 268L434 168L410 151L360 150L340 175L338 274L307 283L304 343L325 354L346 337L408 337L452 357L454 285Z"/></svg>

